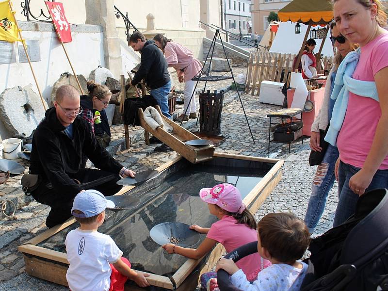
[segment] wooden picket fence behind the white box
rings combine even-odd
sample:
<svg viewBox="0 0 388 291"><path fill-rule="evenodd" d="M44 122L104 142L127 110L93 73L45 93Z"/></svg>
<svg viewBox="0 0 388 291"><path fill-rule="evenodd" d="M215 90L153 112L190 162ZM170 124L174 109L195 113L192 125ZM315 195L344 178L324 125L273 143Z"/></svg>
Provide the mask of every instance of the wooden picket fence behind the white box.
<svg viewBox="0 0 388 291"><path fill-rule="evenodd" d="M294 54L252 52L249 57L245 92L249 93L251 90L252 95L259 95L261 81L285 82L288 72L292 71L294 58ZM329 69L333 60L325 56L322 62L324 68Z"/></svg>

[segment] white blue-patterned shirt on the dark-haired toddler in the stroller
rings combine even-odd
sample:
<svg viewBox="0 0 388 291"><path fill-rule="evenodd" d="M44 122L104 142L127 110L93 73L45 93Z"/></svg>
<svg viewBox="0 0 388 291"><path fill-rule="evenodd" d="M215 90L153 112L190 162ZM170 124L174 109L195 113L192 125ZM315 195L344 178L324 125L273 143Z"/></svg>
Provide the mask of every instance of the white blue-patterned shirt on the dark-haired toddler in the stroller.
<svg viewBox="0 0 388 291"><path fill-rule="evenodd" d="M240 269L231 276L232 284L244 291L299 291L305 278L307 264L298 269L288 264L273 264L261 272L252 284Z"/></svg>

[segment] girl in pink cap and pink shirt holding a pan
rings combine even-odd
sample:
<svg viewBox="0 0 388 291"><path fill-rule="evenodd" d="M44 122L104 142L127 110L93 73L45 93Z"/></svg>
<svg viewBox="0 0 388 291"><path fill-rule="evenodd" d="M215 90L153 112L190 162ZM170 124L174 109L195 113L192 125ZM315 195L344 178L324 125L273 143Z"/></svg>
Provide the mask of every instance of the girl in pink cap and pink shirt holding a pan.
<svg viewBox="0 0 388 291"><path fill-rule="evenodd" d="M200 259L209 253L217 242L225 247L226 252L231 252L243 244L257 241L256 220L242 203L241 194L237 188L226 183L219 184L213 188L201 189L199 196L208 203L210 214L217 216L219 221L213 223L210 228L190 226L191 229L199 233L207 234L205 240L197 249L184 248L172 243L162 245L162 248L169 254ZM258 262L261 263L258 264ZM237 265L248 280L253 281L262 269L271 265L271 262L262 259L256 253L239 260ZM214 273L215 276L216 273Z"/></svg>

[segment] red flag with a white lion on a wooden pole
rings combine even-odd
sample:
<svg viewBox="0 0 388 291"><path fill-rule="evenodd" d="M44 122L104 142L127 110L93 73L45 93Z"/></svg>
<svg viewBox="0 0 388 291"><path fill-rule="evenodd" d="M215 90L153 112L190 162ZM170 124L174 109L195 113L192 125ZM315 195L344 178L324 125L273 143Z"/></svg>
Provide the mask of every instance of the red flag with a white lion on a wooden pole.
<svg viewBox="0 0 388 291"><path fill-rule="evenodd" d="M67 22L64 6L60 2L45 1L45 3L47 9L49 9L49 14L58 38L64 43L71 42L70 24Z"/></svg>

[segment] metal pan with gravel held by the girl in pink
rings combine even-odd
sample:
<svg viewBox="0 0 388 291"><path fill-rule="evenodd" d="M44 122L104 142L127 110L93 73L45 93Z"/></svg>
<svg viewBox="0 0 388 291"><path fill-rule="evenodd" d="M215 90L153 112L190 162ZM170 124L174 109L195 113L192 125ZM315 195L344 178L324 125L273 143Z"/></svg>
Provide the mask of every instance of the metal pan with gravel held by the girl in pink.
<svg viewBox="0 0 388 291"><path fill-rule="evenodd" d="M199 241L199 233L181 222L163 222L152 227L151 238L158 244L173 243L182 247L190 247Z"/></svg>

